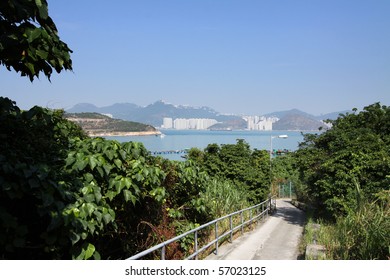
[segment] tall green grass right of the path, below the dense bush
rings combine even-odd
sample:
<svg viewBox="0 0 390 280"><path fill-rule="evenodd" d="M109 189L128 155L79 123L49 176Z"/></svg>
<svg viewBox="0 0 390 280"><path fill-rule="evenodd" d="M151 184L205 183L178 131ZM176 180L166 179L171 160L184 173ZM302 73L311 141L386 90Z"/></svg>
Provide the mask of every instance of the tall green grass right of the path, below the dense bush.
<svg viewBox="0 0 390 280"><path fill-rule="evenodd" d="M335 224L320 222L317 243L325 245L328 259L390 259L390 192L382 191L370 202L357 187L357 202Z"/></svg>

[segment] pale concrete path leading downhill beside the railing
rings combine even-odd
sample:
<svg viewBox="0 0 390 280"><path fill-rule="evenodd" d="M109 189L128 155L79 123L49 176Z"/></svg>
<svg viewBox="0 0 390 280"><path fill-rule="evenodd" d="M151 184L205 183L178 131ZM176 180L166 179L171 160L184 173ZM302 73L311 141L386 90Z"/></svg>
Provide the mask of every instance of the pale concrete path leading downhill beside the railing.
<svg viewBox="0 0 390 280"><path fill-rule="evenodd" d="M289 200L277 200L277 212L255 230L218 249L207 260L296 260L305 215Z"/></svg>

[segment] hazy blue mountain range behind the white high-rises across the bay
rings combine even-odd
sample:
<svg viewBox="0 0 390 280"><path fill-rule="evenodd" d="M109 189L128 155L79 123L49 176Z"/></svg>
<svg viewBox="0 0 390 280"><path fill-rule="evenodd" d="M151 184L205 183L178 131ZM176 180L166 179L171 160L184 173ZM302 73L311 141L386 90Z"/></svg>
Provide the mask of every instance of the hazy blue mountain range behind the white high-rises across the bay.
<svg viewBox="0 0 390 280"><path fill-rule="evenodd" d="M116 103L111 106L96 107L89 103L80 103L67 110L69 113L96 112L111 114L114 118L133 122L145 123L159 127L163 118L207 118L216 119L219 123L211 127L216 130L246 129L246 122L241 116L222 115L210 107L192 107L173 105L162 100L154 102L146 107L133 103ZM318 130L326 125L325 119L337 119L340 113L335 112L321 116L314 116L298 109L273 112L266 117L277 117L279 121L273 124L274 130Z"/></svg>

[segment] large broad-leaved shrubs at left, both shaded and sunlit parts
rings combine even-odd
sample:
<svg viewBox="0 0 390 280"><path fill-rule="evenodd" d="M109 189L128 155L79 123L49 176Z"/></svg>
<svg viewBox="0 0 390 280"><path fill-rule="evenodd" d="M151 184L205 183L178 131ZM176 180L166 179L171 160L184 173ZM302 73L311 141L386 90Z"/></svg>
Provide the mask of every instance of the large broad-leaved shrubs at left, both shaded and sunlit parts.
<svg viewBox="0 0 390 280"><path fill-rule="evenodd" d="M21 111L5 98L0 105L1 257L136 250L139 219L153 213L153 221L165 199L165 175L142 144L88 138L61 111Z"/></svg>

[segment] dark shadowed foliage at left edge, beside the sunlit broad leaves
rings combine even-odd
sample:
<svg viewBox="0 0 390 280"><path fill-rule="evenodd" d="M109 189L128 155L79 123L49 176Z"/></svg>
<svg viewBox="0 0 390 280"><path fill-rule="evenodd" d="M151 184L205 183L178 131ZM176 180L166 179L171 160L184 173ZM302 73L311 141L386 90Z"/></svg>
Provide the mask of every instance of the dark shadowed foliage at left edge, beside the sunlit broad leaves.
<svg viewBox="0 0 390 280"><path fill-rule="evenodd" d="M62 113L40 107L21 111L0 97L1 259L63 257L57 245L66 233L57 222L72 196L60 184L62 166L69 139L85 135Z"/></svg>

